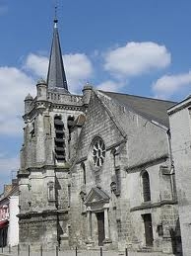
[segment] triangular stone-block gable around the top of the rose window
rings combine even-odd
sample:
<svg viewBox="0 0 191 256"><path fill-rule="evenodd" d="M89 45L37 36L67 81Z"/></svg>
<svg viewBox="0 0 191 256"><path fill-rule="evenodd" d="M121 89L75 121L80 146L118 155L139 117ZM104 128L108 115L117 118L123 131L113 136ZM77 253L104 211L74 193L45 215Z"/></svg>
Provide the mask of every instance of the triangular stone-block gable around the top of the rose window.
<svg viewBox="0 0 191 256"><path fill-rule="evenodd" d="M96 136L103 139L107 149L123 141L126 138L126 133L117 123L111 111L93 91L86 122L78 140L77 162L89 155L91 143Z"/></svg>

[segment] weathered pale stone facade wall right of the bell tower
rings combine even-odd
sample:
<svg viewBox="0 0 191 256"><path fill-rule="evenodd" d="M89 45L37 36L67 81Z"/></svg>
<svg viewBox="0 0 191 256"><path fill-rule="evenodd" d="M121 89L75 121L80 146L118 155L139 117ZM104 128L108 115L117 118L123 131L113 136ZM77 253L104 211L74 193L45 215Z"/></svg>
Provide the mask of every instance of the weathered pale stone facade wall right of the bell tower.
<svg viewBox="0 0 191 256"><path fill-rule="evenodd" d="M168 226L174 230L177 214L171 213L167 221L163 221L169 208L175 211L173 201L174 191L171 188L169 175L170 159L168 158L168 140L166 130L147 122L142 117L125 111L123 108L113 107L113 117L110 105L103 104L95 92L92 93L87 122L82 128L79 138L78 160L72 168L72 198L70 207L70 241L71 244L86 246L87 234L87 209L83 206L80 194L85 197L92 188L100 187L109 197L109 228L111 244L105 248L119 248L126 246L131 250L144 250L145 236L142 214L152 213L154 230L153 251L172 253L172 240L165 240L158 233L159 225ZM115 119L116 111L118 117ZM122 126L121 126L122 124ZM118 126L119 125L119 126ZM127 136L125 136L127 134ZM91 145L96 136L100 136L106 145L106 154L103 165L97 170L91 159ZM147 145L147 146L146 146ZM86 167L86 185L83 184L82 162ZM163 177L160 168L168 169L168 176ZM115 170L120 170L120 191L114 193L111 183ZM147 169L151 179L152 202L143 207L141 171ZM98 181L97 181L98 176ZM137 209L136 209L137 208ZM93 243L97 246L96 216L92 215ZM173 222L173 223L172 223ZM162 224L161 224L162 225ZM165 244L165 249L163 244ZM90 244L89 244L90 246Z"/></svg>

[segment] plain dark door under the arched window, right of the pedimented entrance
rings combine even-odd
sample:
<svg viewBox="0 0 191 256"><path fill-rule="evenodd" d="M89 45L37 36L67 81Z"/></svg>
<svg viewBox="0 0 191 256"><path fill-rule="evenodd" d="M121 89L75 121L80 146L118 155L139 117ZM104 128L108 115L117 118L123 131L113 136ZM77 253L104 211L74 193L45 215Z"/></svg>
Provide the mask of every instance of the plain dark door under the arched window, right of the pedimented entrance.
<svg viewBox="0 0 191 256"><path fill-rule="evenodd" d="M153 246L154 235L153 235L152 215L144 214L143 219L144 219L144 225L145 225L146 246Z"/></svg>

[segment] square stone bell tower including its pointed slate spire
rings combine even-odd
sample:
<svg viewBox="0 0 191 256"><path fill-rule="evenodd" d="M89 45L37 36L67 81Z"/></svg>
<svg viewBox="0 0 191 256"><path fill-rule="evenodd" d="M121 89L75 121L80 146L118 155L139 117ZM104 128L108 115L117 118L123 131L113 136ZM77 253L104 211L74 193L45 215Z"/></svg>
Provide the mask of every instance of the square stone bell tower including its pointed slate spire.
<svg viewBox="0 0 191 256"><path fill-rule="evenodd" d="M47 80L36 84L36 97L25 100L24 143L18 172L20 244L69 246L70 166L87 102L70 94L54 20ZM77 134L77 135L76 135Z"/></svg>

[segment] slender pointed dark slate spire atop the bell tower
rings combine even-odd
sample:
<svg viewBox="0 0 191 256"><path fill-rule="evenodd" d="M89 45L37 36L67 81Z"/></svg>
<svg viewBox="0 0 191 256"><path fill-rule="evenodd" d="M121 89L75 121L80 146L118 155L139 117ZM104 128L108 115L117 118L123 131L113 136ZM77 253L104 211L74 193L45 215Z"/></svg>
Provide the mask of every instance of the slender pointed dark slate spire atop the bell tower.
<svg viewBox="0 0 191 256"><path fill-rule="evenodd" d="M49 89L55 89L55 88L65 89L65 92L69 93L63 59L62 59L62 51L60 47L57 23L58 23L58 20L55 18L53 40L51 45L49 67L48 67L48 74L47 74L47 86Z"/></svg>

